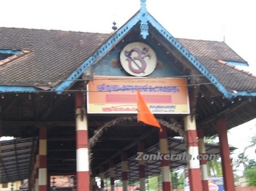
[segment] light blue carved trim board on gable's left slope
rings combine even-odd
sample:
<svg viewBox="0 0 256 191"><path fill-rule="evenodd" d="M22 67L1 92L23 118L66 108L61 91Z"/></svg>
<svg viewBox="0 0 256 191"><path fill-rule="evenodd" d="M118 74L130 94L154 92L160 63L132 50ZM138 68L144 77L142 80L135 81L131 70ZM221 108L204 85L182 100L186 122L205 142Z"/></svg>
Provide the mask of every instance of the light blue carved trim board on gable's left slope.
<svg viewBox="0 0 256 191"><path fill-rule="evenodd" d="M108 39L107 42L102 44L98 50L94 52L85 62L82 63L81 66L78 67L72 74L70 74L67 79L62 82L57 87L53 88L58 94L62 93L65 89L67 89L73 82L75 82L80 75L82 75L90 66L92 66L99 58L105 55L108 51L110 51L115 44L117 44L128 32L129 30L138 23L139 17L132 17L131 20L124 26L118 29L116 33Z"/></svg>

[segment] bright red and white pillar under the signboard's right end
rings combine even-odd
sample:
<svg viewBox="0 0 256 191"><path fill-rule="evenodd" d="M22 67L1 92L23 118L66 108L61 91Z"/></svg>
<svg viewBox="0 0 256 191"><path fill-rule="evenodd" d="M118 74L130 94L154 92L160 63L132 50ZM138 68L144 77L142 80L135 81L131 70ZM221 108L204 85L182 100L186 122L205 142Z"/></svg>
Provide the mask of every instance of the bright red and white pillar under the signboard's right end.
<svg viewBox="0 0 256 191"><path fill-rule="evenodd" d="M200 162L199 159L197 159L199 151L195 116L188 115L184 118L184 128L187 135L188 155L192 157L191 159L188 159L189 187L191 191L202 191Z"/></svg>

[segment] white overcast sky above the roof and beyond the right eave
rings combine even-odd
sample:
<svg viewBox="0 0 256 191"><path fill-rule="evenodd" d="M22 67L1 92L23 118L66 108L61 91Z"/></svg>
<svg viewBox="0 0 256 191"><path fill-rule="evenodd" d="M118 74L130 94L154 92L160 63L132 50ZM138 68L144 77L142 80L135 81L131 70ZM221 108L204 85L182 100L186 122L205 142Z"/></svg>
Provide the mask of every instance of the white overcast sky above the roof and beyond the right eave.
<svg viewBox="0 0 256 191"><path fill-rule="evenodd" d="M120 27L140 9L140 0L0 0L0 6L0 27L110 33L114 20ZM147 0L146 8L176 38L225 41L256 74L254 0ZM230 143L245 147L255 123L230 130Z"/></svg>

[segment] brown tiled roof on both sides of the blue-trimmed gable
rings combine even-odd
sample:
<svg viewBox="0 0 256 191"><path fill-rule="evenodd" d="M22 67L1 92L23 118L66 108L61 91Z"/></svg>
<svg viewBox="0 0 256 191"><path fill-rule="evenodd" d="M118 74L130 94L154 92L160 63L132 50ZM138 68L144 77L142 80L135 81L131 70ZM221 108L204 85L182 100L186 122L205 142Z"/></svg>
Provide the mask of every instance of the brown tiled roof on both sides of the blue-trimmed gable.
<svg viewBox="0 0 256 191"><path fill-rule="evenodd" d="M0 66L0 85L51 86L66 79L110 34L0 28L0 49L26 51ZM178 39L227 90L256 90L256 78L219 61L246 63L225 42ZM242 82L242 83L238 83Z"/></svg>

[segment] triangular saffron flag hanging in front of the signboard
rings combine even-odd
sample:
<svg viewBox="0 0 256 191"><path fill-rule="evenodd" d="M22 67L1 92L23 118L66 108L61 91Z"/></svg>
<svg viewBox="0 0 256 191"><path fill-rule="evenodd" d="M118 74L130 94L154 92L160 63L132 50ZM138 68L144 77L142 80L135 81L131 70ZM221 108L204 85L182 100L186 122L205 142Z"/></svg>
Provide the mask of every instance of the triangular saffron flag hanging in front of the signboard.
<svg viewBox="0 0 256 191"><path fill-rule="evenodd" d="M138 122L144 122L148 125L152 125L160 129L162 131L162 127L157 121L154 114L151 113L146 102L144 101L143 97L140 95L140 91L137 90L137 97L138 97Z"/></svg>

